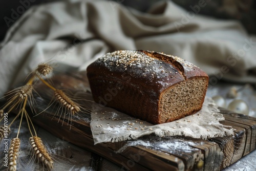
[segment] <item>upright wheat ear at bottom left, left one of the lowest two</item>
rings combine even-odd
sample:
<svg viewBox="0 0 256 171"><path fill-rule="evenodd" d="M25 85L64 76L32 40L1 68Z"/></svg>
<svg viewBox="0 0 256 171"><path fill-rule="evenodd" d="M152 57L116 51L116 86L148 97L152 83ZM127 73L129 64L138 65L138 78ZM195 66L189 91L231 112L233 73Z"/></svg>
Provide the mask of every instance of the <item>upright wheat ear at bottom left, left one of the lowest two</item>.
<svg viewBox="0 0 256 171"><path fill-rule="evenodd" d="M11 140L11 146L8 152L8 170L10 171L14 171L17 169L16 160L18 158L19 147L20 147L20 139L13 138Z"/></svg>

